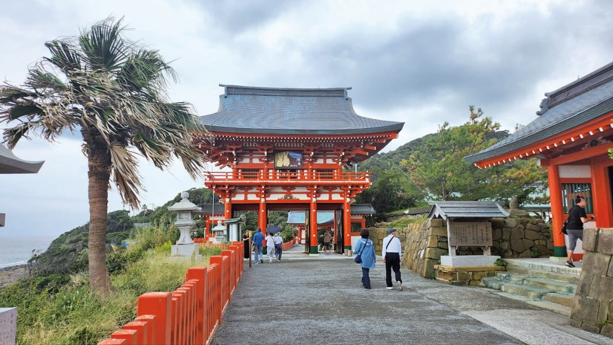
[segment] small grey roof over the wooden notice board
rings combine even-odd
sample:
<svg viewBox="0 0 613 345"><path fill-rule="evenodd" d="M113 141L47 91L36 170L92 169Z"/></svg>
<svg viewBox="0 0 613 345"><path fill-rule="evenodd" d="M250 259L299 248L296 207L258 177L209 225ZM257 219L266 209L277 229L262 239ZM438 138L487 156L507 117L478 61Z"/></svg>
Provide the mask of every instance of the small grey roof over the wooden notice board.
<svg viewBox="0 0 613 345"><path fill-rule="evenodd" d="M429 219L509 217L500 204L504 201L428 201L432 210Z"/></svg>

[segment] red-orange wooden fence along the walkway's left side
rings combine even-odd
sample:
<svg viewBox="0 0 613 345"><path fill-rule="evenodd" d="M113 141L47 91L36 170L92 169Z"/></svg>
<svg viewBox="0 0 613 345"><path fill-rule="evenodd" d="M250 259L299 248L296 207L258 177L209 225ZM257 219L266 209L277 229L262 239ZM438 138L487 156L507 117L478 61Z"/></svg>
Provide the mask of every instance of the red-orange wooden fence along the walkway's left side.
<svg viewBox="0 0 613 345"><path fill-rule="evenodd" d="M242 274L243 242L232 242L177 290L140 295L136 319L98 345L210 344Z"/></svg>

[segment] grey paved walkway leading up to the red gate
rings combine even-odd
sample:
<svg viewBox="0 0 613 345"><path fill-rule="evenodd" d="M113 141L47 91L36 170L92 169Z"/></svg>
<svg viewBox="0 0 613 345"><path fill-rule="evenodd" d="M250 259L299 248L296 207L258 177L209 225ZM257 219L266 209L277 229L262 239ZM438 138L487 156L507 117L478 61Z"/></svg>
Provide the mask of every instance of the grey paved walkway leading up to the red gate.
<svg viewBox="0 0 613 345"><path fill-rule="evenodd" d="M365 290L359 265L340 254L295 247L281 262L245 261L213 344L613 344L569 327L568 317L406 269L405 289L386 290L377 265Z"/></svg>

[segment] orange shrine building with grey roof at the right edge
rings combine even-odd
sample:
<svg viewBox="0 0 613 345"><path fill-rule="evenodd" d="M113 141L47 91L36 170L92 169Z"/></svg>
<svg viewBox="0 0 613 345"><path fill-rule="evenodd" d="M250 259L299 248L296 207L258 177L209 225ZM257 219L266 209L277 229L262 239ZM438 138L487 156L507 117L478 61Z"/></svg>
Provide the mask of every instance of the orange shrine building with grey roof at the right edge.
<svg viewBox="0 0 613 345"><path fill-rule="evenodd" d="M566 236L560 229L575 196L584 196L585 212L597 215L585 228L613 227L613 160L608 152L613 147L613 63L545 96L535 120L466 161L488 168L538 158L549 177L554 255L566 260Z"/></svg>

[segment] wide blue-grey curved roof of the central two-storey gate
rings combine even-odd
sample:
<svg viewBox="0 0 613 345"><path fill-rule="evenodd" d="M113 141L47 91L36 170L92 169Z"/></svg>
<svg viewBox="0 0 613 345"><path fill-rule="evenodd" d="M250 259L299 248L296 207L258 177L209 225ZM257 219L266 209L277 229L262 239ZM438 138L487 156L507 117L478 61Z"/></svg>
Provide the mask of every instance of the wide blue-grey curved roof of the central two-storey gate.
<svg viewBox="0 0 613 345"><path fill-rule="evenodd" d="M200 117L212 132L244 134L368 134L398 132L403 122L357 115L346 88L264 88L223 85L219 109Z"/></svg>

